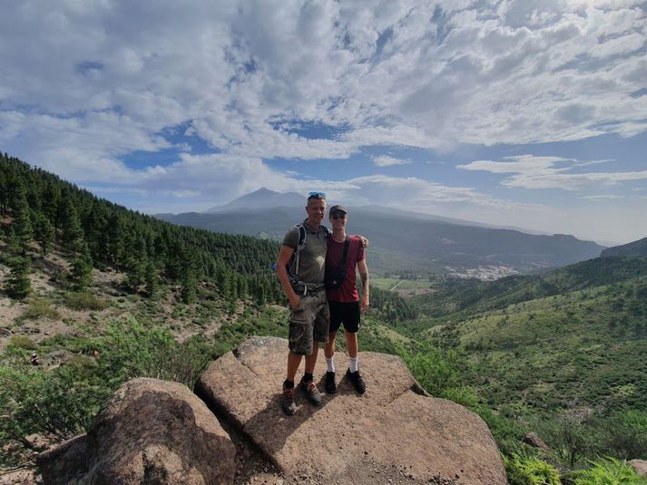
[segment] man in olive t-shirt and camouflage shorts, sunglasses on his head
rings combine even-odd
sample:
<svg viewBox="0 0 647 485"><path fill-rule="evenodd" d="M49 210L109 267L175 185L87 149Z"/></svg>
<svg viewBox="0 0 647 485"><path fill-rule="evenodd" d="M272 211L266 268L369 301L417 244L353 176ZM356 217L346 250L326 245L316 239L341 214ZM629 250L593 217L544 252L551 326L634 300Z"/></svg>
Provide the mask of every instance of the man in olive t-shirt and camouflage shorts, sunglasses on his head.
<svg viewBox="0 0 647 485"><path fill-rule="evenodd" d="M312 373L317 363L319 342L328 341L328 300L324 287L328 230L321 226L326 214L326 194L310 192L306 212L308 218L303 221L306 245L299 252L299 285L296 288L290 283L286 267L297 250L299 228L292 228L286 234L276 264L280 285L288 296L291 310L288 372L283 383L281 399L281 409L288 415L294 414L297 409L294 402L294 377L304 355L306 369L299 388L309 403L315 406L321 404L321 394L314 383Z"/></svg>

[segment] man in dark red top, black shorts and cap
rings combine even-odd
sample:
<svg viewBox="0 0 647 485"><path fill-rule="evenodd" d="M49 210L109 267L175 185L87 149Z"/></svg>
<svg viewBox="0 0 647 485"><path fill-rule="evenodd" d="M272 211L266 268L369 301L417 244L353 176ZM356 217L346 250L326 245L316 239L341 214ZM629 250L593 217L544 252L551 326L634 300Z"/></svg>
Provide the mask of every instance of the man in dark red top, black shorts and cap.
<svg viewBox="0 0 647 485"><path fill-rule="evenodd" d="M348 209L345 206L333 206L328 212L332 234L328 238L328 252L326 253L326 271L338 269L344 252L346 239L348 238L348 253L346 257L346 274L341 286L328 288L328 306L330 308L330 327L328 343L324 347L326 355L326 393L335 393L335 336L339 325L344 325L346 332L346 348L348 351L347 376L355 390L363 394L366 391L366 383L359 373L358 365L358 330L359 315L368 309L369 305L369 283L368 266L364 247L358 236L348 237L346 234L346 223L348 222ZM362 281L362 296L359 298L358 286L356 284L356 267Z"/></svg>

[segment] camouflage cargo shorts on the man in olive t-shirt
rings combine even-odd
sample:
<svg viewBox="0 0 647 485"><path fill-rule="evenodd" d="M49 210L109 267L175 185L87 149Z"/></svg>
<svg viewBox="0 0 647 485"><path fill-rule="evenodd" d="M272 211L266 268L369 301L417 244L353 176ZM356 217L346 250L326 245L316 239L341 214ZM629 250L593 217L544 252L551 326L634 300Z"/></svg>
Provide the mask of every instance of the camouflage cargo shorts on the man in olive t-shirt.
<svg viewBox="0 0 647 485"><path fill-rule="evenodd" d="M325 288L301 296L299 306L289 317L289 351L299 355L312 354L313 341L328 342L329 321Z"/></svg>

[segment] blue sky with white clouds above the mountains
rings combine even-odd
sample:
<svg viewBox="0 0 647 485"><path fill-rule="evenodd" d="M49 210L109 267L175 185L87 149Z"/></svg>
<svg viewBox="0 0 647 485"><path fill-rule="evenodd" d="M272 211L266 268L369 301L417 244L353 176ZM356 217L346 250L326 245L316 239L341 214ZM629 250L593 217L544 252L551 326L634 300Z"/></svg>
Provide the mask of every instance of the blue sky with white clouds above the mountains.
<svg viewBox="0 0 647 485"><path fill-rule="evenodd" d="M647 236L647 3L21 0L0 150L144 212L261 187Z"/></svg>

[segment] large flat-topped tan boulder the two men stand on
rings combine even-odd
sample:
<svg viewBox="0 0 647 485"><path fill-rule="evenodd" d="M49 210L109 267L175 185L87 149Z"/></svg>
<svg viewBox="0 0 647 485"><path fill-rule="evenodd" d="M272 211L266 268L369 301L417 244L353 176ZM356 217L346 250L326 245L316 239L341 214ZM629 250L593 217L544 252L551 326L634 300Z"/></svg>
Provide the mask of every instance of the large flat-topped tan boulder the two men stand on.
<svg viewBox="0 0 647 485"><path fill-rule="evenodd" d="M398 470L408 483L507 483L485 422L456 403L421 395L398 357L361 353L364 395L343 379L319 408L297 393L297 412L285 416L279 401L287 355L286 340L253 337L212 363L196 386L287 478L372 485ZM346 356L337 354L336 364L339 379ZM321 391L325 372L321 358Z"/></svg>

